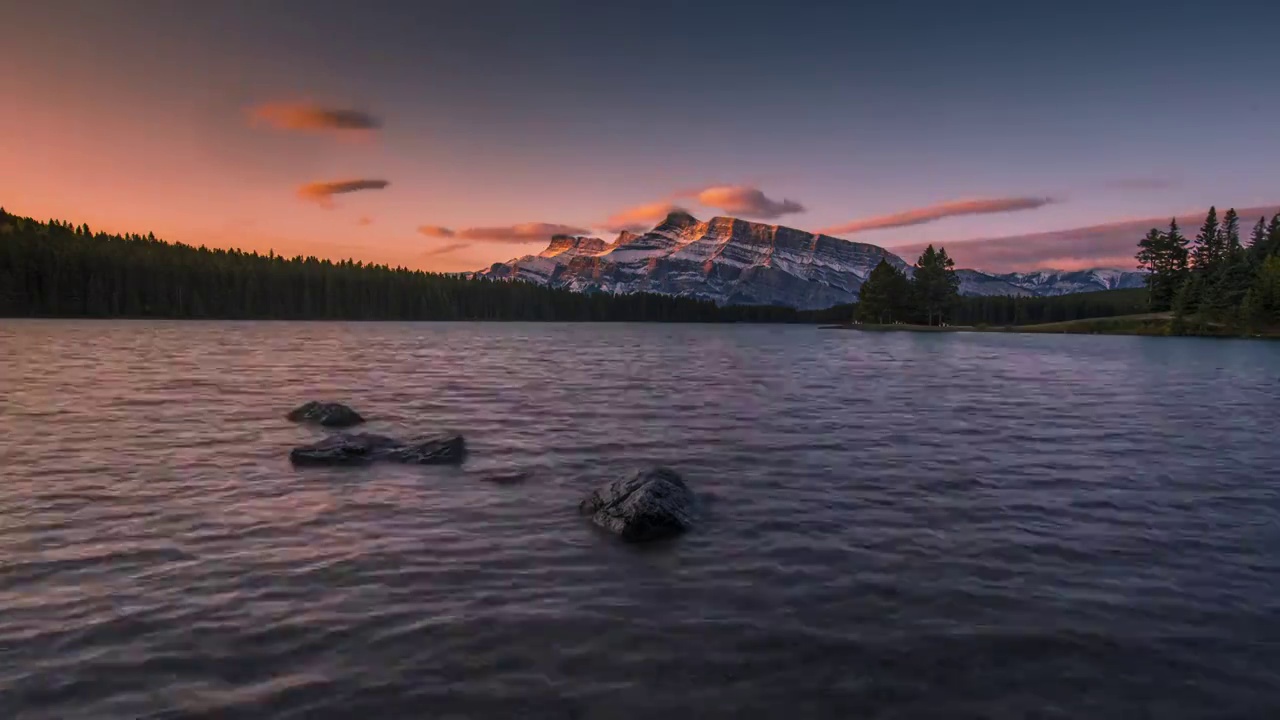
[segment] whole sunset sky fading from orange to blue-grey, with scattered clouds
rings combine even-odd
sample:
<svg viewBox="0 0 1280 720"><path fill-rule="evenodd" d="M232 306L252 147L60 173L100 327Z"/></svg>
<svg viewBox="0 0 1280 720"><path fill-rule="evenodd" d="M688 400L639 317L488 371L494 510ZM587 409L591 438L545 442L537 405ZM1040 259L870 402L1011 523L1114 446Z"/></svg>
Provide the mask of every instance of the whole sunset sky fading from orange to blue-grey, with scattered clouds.
<svg viewBox="0 0 1280 720"><path fill-rule="evenodd" d="M1280 205L1270 0L0 18L0 205L193 245L468 270L678 206L1006 270L1128 263L1142 234L1073 228Z"/></svg>

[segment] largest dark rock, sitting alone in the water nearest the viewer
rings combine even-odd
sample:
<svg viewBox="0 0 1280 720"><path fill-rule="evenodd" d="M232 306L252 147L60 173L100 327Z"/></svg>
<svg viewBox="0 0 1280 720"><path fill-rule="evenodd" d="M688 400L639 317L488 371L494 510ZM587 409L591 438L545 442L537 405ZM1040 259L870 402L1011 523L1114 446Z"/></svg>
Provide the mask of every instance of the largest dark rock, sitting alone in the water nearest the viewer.
<svg viewBox="0 0 1280 720"><path fill-rule="evenodd" d="M695 501L675 470L652 468L598 488L579 511L622 539L643 542L691 528Z"/></svg>

